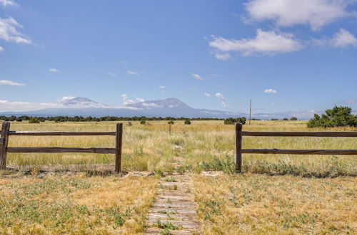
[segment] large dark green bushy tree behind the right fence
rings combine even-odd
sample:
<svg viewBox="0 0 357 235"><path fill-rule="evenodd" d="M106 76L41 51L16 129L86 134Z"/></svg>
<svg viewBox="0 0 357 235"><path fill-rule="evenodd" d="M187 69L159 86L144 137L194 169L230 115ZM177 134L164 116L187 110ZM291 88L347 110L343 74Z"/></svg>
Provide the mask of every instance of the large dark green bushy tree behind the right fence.
<svg viewBox="0 0 357 235"><path fill-rule="evenodd" d="M357 127L357 115L351 113L352 109L347 106L336 106L325 110L321 117L317 114L308 121L308 127Z"/></svg>

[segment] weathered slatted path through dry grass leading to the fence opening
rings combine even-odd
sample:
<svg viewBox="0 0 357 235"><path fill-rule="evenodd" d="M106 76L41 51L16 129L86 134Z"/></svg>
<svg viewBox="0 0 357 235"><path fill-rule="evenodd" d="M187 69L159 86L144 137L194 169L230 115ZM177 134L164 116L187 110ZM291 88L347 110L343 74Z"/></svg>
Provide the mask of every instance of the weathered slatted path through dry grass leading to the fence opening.
<svg viewBox="0 0 357 235"><path fill-rule="evenodd" d="M176 161L178 167L183 159ZM198 234L196 209L190 175L167 175L161 178L149 209L146 234Z"/></svg>

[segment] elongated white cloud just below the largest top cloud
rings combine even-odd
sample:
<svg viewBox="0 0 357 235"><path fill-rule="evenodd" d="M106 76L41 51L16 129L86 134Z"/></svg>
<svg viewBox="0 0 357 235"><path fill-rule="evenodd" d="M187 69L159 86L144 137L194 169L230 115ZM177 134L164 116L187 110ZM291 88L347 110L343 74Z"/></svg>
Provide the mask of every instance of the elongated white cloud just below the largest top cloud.
<svg viewBox="0 0 357 235"><path fill-rule="evenodd" d="M209 46L218 51L238 51L243 56L250 56L253 53L273 56L276 53L289 53L303 48L291 33L276 33L261 29L256 31L255 38L236 40L213 36L213 41L209 42Z"/></svg>

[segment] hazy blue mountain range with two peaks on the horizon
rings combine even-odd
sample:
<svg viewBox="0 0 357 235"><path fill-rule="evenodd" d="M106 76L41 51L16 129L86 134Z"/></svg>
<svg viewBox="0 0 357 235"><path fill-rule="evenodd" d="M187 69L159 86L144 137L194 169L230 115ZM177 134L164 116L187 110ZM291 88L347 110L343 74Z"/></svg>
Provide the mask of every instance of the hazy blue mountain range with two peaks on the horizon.
<svg viewBox="0 0 357 235"><path fill-rule="evenodd" d="M164 100L145 100L138 103L127 103L124 106L112 107L98 103L89 98L74 97L61 100L54 105L55 108L46 108L42 110L33 110L25 112L6 112L1 115L29 115L29 116L118 116L118 117L248 117L247 113L233 113L221 110L207 110L191 108L177 98L166 98ZM311 112L283 112L283 113L254 113L252 118L271 119L284 117L298 117L298 119L309 119Z"/></svg>

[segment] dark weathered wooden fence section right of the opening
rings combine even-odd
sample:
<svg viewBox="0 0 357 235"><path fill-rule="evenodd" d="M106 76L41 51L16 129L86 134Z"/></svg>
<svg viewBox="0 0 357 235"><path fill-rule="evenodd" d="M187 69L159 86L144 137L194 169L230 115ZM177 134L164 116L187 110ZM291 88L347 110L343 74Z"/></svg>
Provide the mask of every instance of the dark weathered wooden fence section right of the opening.
<svg viewBox="0 0 357 235"><path fill-rule="evenodd" d="M278 149L242 149L243 136L286 136L286 137L357 137L357 131L346 132L249 132L242 131L243 125L236 123L235 163L236 171L242 169L242 153L251 154L288 154L288 155L357 155L357 150L278 150ZM357 145L357 143L356 143Z"/></svg>

